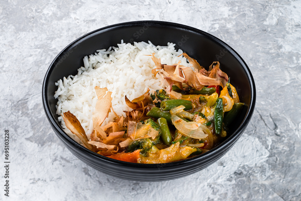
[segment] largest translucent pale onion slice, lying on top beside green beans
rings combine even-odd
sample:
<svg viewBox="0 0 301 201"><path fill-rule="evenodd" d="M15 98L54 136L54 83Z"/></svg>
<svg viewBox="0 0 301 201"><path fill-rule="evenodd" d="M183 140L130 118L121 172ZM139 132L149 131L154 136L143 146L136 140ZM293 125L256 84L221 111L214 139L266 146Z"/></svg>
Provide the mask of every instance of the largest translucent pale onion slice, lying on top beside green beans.
<svg viewBox="0 0 301 201"><path fill-rule="evenodd" d="M200 127L195 130L188 129L187 127L191 126L191 123L182 120L176 115L171 115L171 120L176 129L178 129L181 133L185 134L188 137L201 140L208 136L208 134L205 134ZM197 122L195 123L197 124Z"/></svg>

